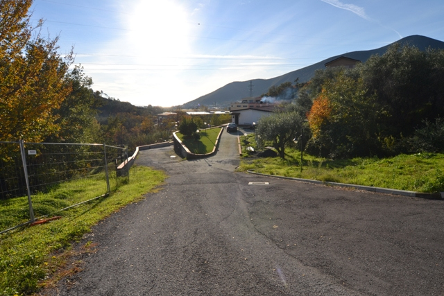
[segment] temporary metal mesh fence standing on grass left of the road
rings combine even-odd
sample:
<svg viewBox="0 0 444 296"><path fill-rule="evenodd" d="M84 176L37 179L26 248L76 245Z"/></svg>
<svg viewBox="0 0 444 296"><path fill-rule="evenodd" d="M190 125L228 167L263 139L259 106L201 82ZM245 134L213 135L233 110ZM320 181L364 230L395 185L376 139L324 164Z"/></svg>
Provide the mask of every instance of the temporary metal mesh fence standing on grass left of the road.
<svg viewBox="0 0 444 296"><path fill-rule="evenodd" d="M0 141L0 234L108 195L129 182L126 159L105 144Z"/></svg>

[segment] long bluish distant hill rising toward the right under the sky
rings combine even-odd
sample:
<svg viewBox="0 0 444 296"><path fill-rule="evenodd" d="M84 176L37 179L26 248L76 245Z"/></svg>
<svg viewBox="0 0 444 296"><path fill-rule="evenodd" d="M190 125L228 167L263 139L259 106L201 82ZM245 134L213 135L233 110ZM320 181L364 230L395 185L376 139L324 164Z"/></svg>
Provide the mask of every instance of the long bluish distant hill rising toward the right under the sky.
<svg viewBox="0 0 444 296"><path fill-rule="evenodd" d="M416 46L421 51L425 51L427 48L432 49L444 49L444 42L439 40L434 40L429 37L420 36L420 35L412 35L409 37L404 37L397 42L401 42L402 44L409 44L411 46ZM393 42L393 43L397 43ZM200 98L196 98L196 100L190 101L182 105L183 108L192 108L196 107L198 104L200 105L212 105L216 103L219 106L228 106L232 102L239 101L241 98L246 98L249 96L248 85L250 81L253 81L253 85L255 85L254 90L255 94L264 94L268 92L268 89L275 85L278 86L283 82L291 82L293 83L296 78L299 78L299 82L307 82L314 76L314 72L317 69L324 69L325 63L335 60L341 56L352 58L355 60L360 60L361 62L366 62L371 55L383 55L389 46L392 44L388 44L379 49L373 49L369 51L352 51L350 53L343 53L342 55L335 55L332 58L327 58L321 62L316 64L312 64L311 66L298 69L296 71L289 72L282 76L278 76L270 79L253 79L248 81L241 82L231 82L228 85L225 85L219 89L216 89L214 92L210 94L205 94L205 96L201 96Z"/></svg>

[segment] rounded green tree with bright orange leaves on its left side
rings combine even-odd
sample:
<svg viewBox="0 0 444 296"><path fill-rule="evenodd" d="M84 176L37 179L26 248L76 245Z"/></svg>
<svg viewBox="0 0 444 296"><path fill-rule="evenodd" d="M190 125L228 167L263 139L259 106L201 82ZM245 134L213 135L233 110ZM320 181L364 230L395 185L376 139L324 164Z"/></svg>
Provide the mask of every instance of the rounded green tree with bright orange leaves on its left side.
<svg viewBox="0 0 444 296"><path fill-rule="evenodd" d="M341 71L327 80L307 117L313 134L310 145L321 155L338 158L379 153L381 109L361 78Z"/></svg>

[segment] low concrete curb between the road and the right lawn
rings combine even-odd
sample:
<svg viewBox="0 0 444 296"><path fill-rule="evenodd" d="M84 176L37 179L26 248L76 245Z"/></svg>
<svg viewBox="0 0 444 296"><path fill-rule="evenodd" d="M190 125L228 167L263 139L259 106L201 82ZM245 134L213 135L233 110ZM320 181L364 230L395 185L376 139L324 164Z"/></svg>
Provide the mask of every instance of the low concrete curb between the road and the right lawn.
<svg viewBox="0 0 444 296"><path fill-rule="evenodd" d="M278 176L278 175L267 175L262 173L256 173L252 170L248 170L247 173L254 174L254 175L263 175L267 177L277 177L279 179L287 179L287 180L293 180L293 181L299 181L299 182L307 182L307 183L314 183L314 184L322 184L322 185L330 185L330 186L338 186L338 187L347 187L352 189L359 189L359 190L365 190L375 193L384 193L384 194L393 194L393 195L403 195L403 196L409 196L412 198L425 198L427 200L443 200L443 192L436 192L436 193L421 193L421 192L415 192L415 191L405 191L405 190L398 190L398 189L387 189L387 188L381 188L381 187L372 187L372 186L364 186L364 185L353 185L353 184L345 184L345 183L336 183L336 182L324 182L324 181L318 181L318 180L310 180L310 179L301 179L296 177L284 177L284 176Z"/></svg>

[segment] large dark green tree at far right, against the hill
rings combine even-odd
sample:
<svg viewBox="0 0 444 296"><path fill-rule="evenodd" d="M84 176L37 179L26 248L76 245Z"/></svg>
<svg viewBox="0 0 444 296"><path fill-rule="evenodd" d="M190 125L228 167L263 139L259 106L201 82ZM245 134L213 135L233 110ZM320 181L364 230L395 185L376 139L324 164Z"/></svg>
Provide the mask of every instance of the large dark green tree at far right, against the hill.
<svg viewBox="0 0 444 296"><path fill-rule="evenodd" d="M384 137L409 136L424 119L444 116L444 51L393 44L357 67L369 94L389 116Z"/></svg>

